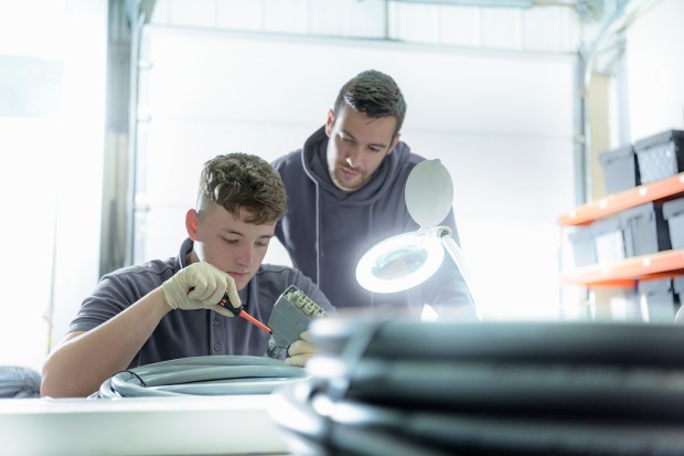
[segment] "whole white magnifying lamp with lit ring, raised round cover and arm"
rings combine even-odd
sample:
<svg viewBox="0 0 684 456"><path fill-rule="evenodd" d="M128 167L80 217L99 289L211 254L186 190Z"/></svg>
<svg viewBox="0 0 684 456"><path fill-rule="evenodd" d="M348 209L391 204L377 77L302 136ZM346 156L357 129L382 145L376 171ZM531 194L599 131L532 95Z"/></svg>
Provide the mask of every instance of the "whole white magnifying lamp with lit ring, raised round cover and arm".
<svg viewBox="0 0 684 456"><path fill-rule="evenodd" d="M420 229L389 237L371 247L356 266L359 284L374 293L413 288L439 269L446 251L461 272L474 301L462 253L451 237L451 229L438 226L449 214L453 201L451 176L441 161L425 160L418 163L406 181L405 198L408 213Z"/></svg>

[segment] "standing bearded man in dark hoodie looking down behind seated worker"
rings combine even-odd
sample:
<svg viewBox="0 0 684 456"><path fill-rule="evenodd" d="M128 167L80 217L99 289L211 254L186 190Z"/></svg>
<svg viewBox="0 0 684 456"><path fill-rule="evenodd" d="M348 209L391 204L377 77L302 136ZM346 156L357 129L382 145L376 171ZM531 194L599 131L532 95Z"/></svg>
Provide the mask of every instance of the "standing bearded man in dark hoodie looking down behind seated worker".
<svg viewBox="0 0 684 456"><path fill-rule="evenodd" d="M394 79L365 71L340 89L325 125L302 149L274 162L288 194L276 235L293 265L316 282L338 308L420 312L424 304L468 318L475 309L461 274L445 258L440 273L403 293L373 294L355 278L361 256L389 236L418 230L404 191L424 160L399 141L406 103ZM458 233L450 211L441 223Z"/></svg>

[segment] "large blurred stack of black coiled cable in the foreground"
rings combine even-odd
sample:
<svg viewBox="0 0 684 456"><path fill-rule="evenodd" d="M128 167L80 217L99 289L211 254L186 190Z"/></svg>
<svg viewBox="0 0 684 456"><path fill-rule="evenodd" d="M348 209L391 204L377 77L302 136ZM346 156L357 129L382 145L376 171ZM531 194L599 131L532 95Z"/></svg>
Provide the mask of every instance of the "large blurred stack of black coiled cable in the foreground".
<svg viewBox="0 0 684 456"><path fill-rule="evenodd" d="M297 454L684 454L674 326L325 319L311 336L311 378L272 409Z"/></svg>

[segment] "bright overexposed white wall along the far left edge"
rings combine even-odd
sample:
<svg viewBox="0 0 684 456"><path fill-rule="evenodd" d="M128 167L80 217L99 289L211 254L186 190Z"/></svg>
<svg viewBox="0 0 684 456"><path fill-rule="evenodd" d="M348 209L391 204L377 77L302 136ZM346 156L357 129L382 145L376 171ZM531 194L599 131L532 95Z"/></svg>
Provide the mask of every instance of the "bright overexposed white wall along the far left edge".
<svg viewBox="0 0 684 456"><path fill-rule="evenodd" d="M0 364L40 369L50 322L61 338L97 283L106 14L104 0L0 1Z"/></svg>

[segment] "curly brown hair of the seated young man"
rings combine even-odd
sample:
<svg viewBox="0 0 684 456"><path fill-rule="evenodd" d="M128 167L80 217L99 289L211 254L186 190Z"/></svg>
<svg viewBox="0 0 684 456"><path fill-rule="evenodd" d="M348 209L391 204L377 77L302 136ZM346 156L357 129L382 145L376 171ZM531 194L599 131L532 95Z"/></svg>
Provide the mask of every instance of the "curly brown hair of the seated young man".
<svg viewBox="0 0 684 456"><path fill-rule="evenodd" d="M204 163L197 210L207 202L233 215L248 212L245 222L277 222L285 213L286 195L280 174L263 158L249 153L220 155Z"/></svg>

